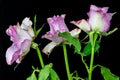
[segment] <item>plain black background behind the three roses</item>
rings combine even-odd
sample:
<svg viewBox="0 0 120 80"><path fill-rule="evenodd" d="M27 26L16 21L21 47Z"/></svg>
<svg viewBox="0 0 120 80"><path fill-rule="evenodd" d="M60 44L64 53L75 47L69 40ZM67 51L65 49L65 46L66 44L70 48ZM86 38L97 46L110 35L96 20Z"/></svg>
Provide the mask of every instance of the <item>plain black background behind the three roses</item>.
<svg viewBox="0 0 120 80"><path fill-rule="evenodd" d="M70 30L76 26L70 24L71 20L87 19L87 12L91 4L99 7L109 7L108 12L117 12L112 20L110 30L115 27L118 30L110 36L103 37L100 44L100 51L95 55L94 64L101 64L108 67L115 75L120 76L120 5L118 0L0 0L0 80L25 80L31 73L31 66L40 67L39 60L35 50L31 49L26 58L14 71L16 63L8 66L5 61L6 49L12 44L9 36L6 35L5 30L9 25L15 25L25 17L33 17L37 15L37 28L41 27L43 23L47 23L46 19L53 15L66 14L66 24ZM41 43L42 49L49 41L41 40L41 35L49 31L46 24L36 42ZM82 36L81 36L82 37ZM69 49L69 47L68 47ZM71 72L77 70L80 76L86 77L87 73L84 65L81 63L80 56L73 54L73 50L69 49L69 65ZM56 47L50 57L42 54L45 64L53 63L53 68L60 76L61 80L67 80L62 47ZM89 60L89 58L86 58ZM88 61L89 62L89 61ZM100 77L99 69L93 72L93 80L103 80Z"/></svg>

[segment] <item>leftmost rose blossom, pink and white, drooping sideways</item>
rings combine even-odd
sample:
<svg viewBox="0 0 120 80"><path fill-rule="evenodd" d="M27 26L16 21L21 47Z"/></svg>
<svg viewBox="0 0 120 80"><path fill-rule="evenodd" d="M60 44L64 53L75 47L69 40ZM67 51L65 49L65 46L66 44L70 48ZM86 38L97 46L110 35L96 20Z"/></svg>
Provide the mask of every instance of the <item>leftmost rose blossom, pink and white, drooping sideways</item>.
<svg viewBox="0 0 120 80"><path fill-rule="evenodd" d="M29 52L31 42L34 38L34 31L31 27L32 21L25 18L22 24L9 26L6 34L10 36L12 45L6 51L6 61L11 65L14 61L20 63L23 57Z"/></svg>

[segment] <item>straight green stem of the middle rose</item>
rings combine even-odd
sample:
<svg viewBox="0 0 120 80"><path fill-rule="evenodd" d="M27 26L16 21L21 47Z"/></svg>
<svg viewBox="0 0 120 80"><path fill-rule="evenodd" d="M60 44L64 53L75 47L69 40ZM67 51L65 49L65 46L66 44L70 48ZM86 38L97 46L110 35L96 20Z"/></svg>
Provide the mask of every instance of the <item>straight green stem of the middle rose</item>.
<svg viewBox="0 0 120 80"><path fill-rule="evenodd" d="M64 59L65 59L65 66L66 66L68 80L72 80L72 77L70 75L69 63L68 63L67 49L64 43L63 43L63 52L64 52Z"/></svg>

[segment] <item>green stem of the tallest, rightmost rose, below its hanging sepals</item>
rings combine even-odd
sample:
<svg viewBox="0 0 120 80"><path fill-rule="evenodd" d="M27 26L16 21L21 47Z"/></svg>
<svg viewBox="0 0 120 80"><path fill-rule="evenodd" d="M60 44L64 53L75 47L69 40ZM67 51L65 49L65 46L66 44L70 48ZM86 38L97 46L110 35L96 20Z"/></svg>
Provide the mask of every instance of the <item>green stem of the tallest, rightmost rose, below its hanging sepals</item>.
<svg viewBox="0 0 120 80"><path fill-rule="evenodd" d="M93 61L94 61L94 46L92 46L92 51L91 51L90 69L89 69L88 80L92 80Z"/></svg>

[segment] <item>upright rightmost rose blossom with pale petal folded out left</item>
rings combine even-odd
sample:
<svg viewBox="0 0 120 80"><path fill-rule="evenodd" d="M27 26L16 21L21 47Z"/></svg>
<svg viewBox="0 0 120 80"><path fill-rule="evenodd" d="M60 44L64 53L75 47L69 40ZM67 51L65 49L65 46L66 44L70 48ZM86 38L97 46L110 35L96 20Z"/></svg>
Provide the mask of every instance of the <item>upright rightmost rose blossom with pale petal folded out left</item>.
<svg viewBox="0 0 120 80"><path fill-rule="evenodd" d="M90 6L90 11L87 13L89 19L79 21L71 21L74 25L81 28L83 31L107 32L110 27L110 21L114 13L107 13L108 7Z"/></svg>

